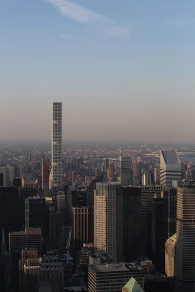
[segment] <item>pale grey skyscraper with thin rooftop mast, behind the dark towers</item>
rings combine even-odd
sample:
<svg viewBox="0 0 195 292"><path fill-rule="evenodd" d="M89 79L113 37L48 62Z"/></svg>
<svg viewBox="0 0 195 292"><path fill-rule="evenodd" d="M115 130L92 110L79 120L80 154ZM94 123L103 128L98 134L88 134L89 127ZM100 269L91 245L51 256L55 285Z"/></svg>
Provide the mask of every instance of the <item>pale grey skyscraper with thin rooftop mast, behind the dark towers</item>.
<svg viewBox="0 0 195 292"><path fill-rule="evenodd" d="M120 178L121 186L128 186L133 183L133 169L132 169L131 157L120 156L119 178Z"/></svg>

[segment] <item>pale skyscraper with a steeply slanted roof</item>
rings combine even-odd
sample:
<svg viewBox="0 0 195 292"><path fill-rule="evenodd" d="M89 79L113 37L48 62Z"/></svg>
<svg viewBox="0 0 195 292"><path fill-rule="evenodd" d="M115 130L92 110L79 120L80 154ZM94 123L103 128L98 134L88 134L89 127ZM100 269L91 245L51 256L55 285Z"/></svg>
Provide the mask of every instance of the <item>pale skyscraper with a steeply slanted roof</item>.
<svg viewBox="0 0 195 292"><path fill-rule="evenodd" d="M160 150L160 184L172 186L181 180L181 164L176 150Z"/></svg>

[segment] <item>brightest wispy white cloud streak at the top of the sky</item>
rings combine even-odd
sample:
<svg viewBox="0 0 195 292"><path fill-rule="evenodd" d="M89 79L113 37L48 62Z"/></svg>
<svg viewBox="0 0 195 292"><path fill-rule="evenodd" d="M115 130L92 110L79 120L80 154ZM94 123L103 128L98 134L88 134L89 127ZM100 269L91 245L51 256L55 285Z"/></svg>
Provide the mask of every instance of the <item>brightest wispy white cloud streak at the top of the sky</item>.
<svg viewBox="0 0 195 292"><path fill-rule="evenodd" d="M74 19L80 23L94 23L94 29L101 33L107 32L108 35L121 35L126 36L129 33L129 27L123 25L117 25L115 21L110 18L106 18L103 15L81 6L70 0L42 0L50 3L59 12L68 18Z"/></svg>

